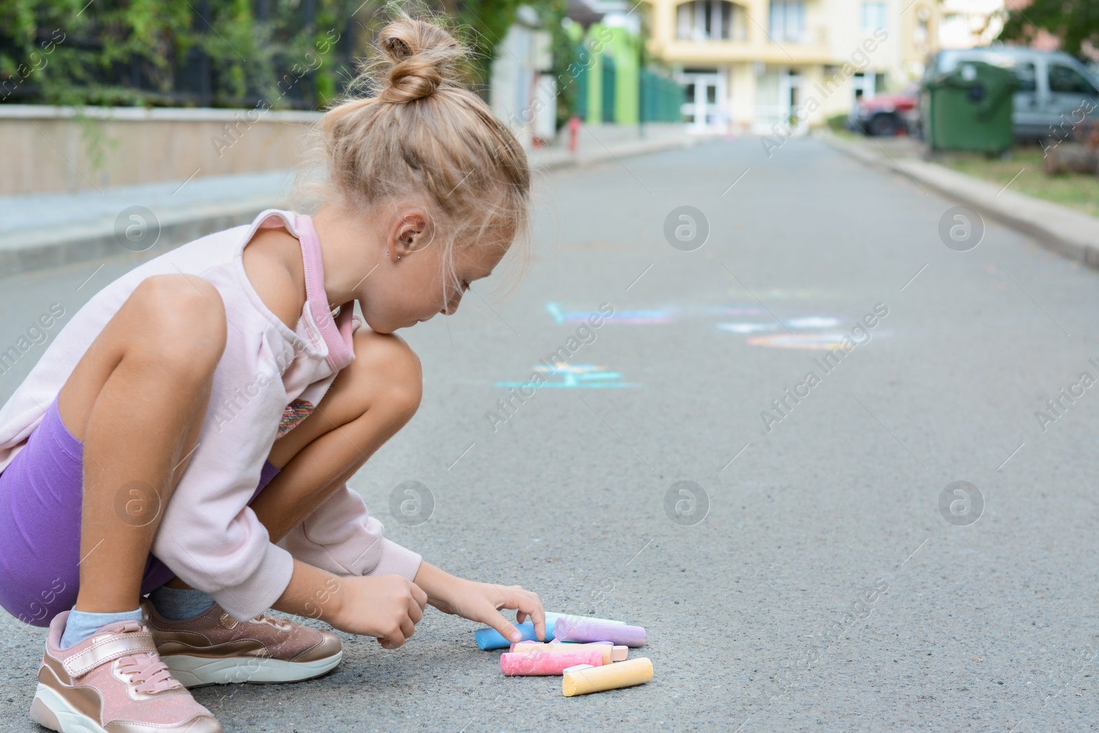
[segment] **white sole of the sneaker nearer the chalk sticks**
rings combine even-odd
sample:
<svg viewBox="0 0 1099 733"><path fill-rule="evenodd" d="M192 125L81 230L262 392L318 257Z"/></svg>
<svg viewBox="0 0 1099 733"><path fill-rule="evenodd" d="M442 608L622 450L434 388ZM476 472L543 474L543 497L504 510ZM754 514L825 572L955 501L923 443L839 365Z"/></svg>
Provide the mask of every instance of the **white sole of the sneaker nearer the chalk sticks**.
<svg viewBox="0 0 1099 733"><path fill-rule="evenodd" d="M326 675L343 658L343 651L315 662L284 662L258 657L192 657L186 654L162 656L171 676L184 687L206 687L207 685L278 685L300 682ZM66 732L67 733L67 732Z"/></svg>

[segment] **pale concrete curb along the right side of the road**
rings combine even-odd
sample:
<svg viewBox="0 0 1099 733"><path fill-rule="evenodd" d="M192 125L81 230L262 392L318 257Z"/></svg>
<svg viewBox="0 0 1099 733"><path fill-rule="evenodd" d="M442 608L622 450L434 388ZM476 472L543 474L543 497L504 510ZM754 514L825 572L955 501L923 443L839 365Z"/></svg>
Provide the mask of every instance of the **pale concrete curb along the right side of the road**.
<svg viewBox="0 0 1099 733"><path fill-rule="evenodd" d="M818 140L878 170L899 173L1034 238L1041 246L1099 269L1099 219L1052 201L1017 193L935 163L882 157L863 146L818 133Z"/></svg>

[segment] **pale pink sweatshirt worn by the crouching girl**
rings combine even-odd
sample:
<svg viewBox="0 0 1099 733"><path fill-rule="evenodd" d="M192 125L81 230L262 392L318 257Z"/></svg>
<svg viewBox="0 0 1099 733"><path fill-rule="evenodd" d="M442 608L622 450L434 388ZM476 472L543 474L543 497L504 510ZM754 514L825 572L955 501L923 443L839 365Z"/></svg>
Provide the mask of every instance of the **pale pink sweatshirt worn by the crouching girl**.
<svg viewBox="0 0 1099 733"><path fill-rule="evenodd" d="M308 300L293 331L260 300L242 258L257 229L282 225L301 241L306 269ZM320 243L308 218L289 211L270 209L249 225L167 252L96 293L0 409L0 470L23 448L45 408L137 284L179 273L201 276L218 288L229 329L198 446L164 511L153 554L242 621L282 595L295 557L337 575L412 580L420 555L384 538L381 522L346 484L277 545L247 506L275 438L304 420L336 373L354 360L352 333L360 325L351 302L333 318Z"/></svg>

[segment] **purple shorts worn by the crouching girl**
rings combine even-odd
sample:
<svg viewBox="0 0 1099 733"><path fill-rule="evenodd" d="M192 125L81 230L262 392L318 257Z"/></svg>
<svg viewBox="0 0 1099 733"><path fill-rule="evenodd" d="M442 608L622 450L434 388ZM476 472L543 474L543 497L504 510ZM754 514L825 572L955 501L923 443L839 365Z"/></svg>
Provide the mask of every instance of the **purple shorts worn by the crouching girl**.
<svg viewBox="0 0 1099 733"><path fill-rule="evenodd" d="M248 503L278 473L264 463ZM84 444L65 427L55 398L42 424L0 473L0 607L20 621L48 626L76 602L82 498ZM149 555L142 595L175 575Z"/></svg>

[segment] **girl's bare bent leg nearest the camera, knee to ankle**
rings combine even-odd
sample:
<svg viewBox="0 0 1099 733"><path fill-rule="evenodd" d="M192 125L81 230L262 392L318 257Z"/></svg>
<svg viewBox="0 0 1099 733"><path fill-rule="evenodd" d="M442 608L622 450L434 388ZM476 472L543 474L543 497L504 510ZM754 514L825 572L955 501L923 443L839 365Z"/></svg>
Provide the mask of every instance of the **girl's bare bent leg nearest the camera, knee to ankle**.
<svg viewBox="0 0 1099 733"><path fill-rule="evenodd" d="M58 395L62 421L84 442L77 610L137 608L153 535L206 415L223 311L202 278L144 280Z"/></svg>

